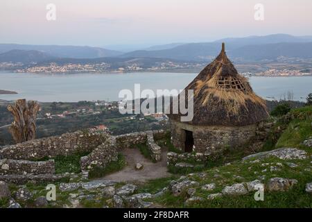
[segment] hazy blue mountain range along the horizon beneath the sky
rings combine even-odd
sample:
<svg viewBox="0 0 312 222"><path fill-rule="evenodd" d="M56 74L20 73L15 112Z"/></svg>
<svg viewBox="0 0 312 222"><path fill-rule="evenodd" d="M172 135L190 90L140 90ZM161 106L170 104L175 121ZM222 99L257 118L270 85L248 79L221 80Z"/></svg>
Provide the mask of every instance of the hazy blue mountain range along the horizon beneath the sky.
<svg viewBox="0 0 312 222"><path fill-rule="evenodd" d="M207 62L220 52L220 42L225 42L226 51L234 61L259 62L276 60L280 56L290 58L312 58L312 36L275 34L225 38L214 42L172 43L150 46L145 50L121 53L90 46L42 46L23 44L0 44L0 62L38 63L45 61L73 62L110 60L125 58L162 58L171 60ZM146 60L146 61L150 61Z"/></svg>

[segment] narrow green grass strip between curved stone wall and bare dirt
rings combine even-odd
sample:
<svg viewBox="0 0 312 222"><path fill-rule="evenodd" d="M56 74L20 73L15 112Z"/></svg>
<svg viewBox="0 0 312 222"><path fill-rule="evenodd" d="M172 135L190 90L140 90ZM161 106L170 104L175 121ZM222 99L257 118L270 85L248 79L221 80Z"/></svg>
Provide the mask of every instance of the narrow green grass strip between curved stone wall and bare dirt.
<svg viewBox="0 0 312 222"><path fill-rule="evenodd" d="M116 171L120 171L125 167L127 163L125 162L125 157L119 153L118 159L116 161L110 162L105 168L103 167L95 167L91 171L89 171L89 178L101 178L106 176L109 173L114 173Z"/></svg>

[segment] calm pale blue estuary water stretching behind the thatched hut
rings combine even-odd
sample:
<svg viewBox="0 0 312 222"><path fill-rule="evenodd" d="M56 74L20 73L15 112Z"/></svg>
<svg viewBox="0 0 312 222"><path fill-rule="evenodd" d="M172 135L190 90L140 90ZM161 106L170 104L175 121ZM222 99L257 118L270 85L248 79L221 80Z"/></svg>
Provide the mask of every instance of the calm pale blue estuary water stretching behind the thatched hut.
<svg viewBox="0 0 312 222"><path fill-rule="evenodd" d="M143 89L184 89L197 74L186 73L112 73L112 74L17 74L0 73L0 89L18 92L0 99L28 99L41 102L118 101L121 89L135 84ZM294 100L304 101L312 92L312 76L250 77L254 92L263 99L283 99L288 92ZM136 96L137 97L137 96Z"/></svg>

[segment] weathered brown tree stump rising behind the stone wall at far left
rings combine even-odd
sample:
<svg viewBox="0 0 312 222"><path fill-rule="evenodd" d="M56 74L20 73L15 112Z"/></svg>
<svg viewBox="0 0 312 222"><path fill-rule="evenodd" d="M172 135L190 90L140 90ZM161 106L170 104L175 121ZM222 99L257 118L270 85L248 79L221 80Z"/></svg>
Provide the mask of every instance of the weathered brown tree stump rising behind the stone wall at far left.
<svg viewBox="0 0 312 222"><path fill-rule="evenodd" d="M26 99L18 99L14 105L8 105L8 110L14 117L9 130L17 144L35 139L35 123L39 108L40 105L37 102L28 101L26 103Z"/></svg>

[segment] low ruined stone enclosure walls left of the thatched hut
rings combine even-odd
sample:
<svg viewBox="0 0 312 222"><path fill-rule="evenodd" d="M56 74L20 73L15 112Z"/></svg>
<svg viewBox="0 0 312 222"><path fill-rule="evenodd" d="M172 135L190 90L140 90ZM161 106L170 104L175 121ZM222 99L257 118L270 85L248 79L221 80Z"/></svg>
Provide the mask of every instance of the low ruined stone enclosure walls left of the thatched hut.
<svg viewBox="0 0 312 222"><path fill-rule="evenodd" d="M2 146L0 147L0 180L19 184L28 179L58 180L62 175L55 174L53 157L83 152L89 153L80 159L83 173L95 167L105 168L107 164L117 160L121 149L132 148L139 144L146 144L150 158L157 162L161 160L162 155L161 148L155 144L154 139L163 139L166 133L164 130L154 130L112 136L101 130L80 130L58 137L33 139L21 144Z"/></svg>

